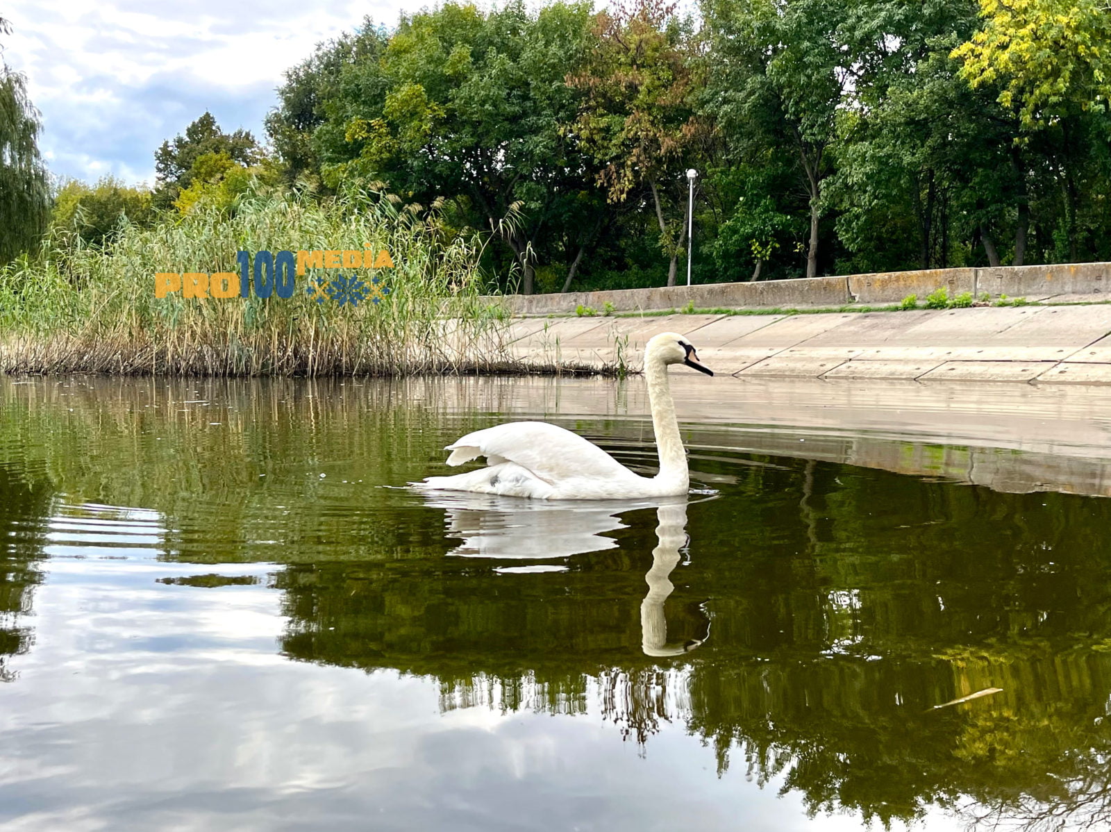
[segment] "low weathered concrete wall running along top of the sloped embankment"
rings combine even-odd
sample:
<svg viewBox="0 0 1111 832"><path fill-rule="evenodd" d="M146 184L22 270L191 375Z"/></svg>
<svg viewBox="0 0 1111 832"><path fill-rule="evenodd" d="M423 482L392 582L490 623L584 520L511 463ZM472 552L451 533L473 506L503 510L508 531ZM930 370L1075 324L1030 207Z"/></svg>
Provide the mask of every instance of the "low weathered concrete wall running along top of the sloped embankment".
<svg viewBox="0 0 1111 832"><path fill-rule="evenodd" d="M988 292L992 298L1007 294L1030 300L1059 295L1100 295L1111 290L1111 263L928 269L758 283L704 283L567 294L512 294L489 300L500 300L518 315L569 314L579 305L601 312L607 303L619 312L681 309L690 302L698 309L803 309L843 307L849 303L898 303L908 294L917 294L921 302L925 295L941 287L948 288L950 295L962 292L979 295Z"/></svg>

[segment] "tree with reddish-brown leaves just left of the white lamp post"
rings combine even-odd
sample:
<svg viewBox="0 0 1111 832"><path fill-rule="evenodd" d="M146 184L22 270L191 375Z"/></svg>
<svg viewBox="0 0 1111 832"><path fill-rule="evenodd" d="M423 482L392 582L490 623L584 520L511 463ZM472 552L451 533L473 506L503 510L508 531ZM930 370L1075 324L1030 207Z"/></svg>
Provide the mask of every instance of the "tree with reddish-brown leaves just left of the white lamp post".
<svg viewBox="0 0 1111 832"><path fill-rule="evenodd" d="M568 82L583 92L572 134L600 166L610 202L651 193L660 248L675 284L685 237L682 171L703 123L694 110L700 88L689 27L663 0L638 0L595 18L595 48Z"/></svg>

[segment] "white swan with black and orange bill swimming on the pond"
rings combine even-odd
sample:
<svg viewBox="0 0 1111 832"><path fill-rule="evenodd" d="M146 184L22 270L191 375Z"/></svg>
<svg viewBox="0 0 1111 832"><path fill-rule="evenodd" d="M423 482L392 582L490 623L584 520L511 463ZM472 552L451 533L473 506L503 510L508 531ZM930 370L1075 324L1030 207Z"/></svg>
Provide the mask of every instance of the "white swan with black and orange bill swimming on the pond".
<svg viewBox="0 0 1111 832"><path fill-rule="evenodd" d="M694 347L682 335L663 332L644 348L644 375L660 472L641 477L595 444L547 422L510 422L468 433L444 450L449 465L486 457L487 468L429 477L426 489L478 491L541 500L614 500L685 494L690 488L687 451L679 437L675 407L668 388L668 364L687 364L708 375Z"/></svg>

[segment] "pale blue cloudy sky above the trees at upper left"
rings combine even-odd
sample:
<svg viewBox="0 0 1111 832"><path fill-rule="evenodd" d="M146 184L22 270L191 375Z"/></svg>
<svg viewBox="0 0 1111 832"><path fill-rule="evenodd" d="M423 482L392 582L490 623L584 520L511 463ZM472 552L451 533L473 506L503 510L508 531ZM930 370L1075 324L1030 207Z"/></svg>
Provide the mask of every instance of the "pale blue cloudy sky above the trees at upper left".
<svg viewBox="0 0 1111 832"><path fill-rule="evenodd" d="M154 151L212 112L264 140L282 72L320 41L393 26L429 0L17 0L0 7L3 61L27 77L51 173L154 181Z"/></svg>

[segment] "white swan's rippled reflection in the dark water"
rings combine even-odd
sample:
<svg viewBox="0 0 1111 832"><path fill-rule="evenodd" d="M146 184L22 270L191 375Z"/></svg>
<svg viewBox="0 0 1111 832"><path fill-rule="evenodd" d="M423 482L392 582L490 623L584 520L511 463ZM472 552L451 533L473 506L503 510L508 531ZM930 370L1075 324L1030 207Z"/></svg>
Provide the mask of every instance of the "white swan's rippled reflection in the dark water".
<svg viewBox="0 0 1111 832"><path fill-rule="evenodd" d="M599 504L432 492L426 493L424 500L430 508L444 510L448 537L462 541L449 557L524 562L498 568L502 573L567 571L565 565L552 561L617 548L618 541L603 533L628 528L620 515L655 508L657 545L644 575L648 593L640 604L641 649L653 658L682 655L709 635L710 618L699 608L702 638L668 641L664 602L674 591L671 572L687 543L687 497Z"/></svg>

